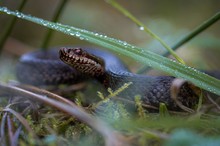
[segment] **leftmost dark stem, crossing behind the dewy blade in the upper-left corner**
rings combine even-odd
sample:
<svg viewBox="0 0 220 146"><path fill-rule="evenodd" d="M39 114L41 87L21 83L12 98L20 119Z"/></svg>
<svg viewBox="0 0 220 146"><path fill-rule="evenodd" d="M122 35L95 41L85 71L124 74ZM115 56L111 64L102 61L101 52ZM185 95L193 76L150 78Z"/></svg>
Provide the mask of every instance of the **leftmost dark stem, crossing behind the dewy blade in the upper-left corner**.
<svg viewBox="0 0 220 146"><path fill-rule="evenodd" d="M24 8L26 2L27 2L27 0L22 0L22 1L21 1L20 5L19 5L19 7L18 7L18 11L21 12L21 11L23 10L23 8ZM11 34L11 32L12 32L12 29L13 29L13 27L14 27L16 21L17 21L17 17L14 16L14 17L11 19L11 21L9 22L9 24L6 26L6 28L4 29L2 38L1 38L1 40L0 40L0 54L1 54L2 50L3 50L3 46L4 46L4 44L5 44L5 42L6 42L7 38L8 38L8 36L9 36L9 35Z"/></svg>

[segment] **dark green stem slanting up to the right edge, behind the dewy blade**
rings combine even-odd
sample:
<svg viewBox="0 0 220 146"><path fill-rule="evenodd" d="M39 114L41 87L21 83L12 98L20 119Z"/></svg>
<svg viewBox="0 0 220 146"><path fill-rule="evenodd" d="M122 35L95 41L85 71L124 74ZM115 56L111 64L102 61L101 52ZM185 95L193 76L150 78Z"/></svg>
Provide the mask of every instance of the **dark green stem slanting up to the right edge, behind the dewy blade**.
<svg viewBox="0 0 220 146"><path fill-rule="evenodd" d="M188 41L190 41L191 39L193 39L195 36L197 36L198 34L200 34L201 32L203 32L205 29L209 28L212 24L214 24L215 22L217 22L220 19L220 12L216 13L215 15L213 15L212 17L210 17L208 20L204 21L201 25L199 25L198 27L196 27L191 33L189 33L188 35L186 35L185 37L183 37L179 42L177 42L172 49L175 51L177 50L180 46L182 46L183 44L187 43ZM166 52L164 54L162 54L163 56L168 56L170 55L170 52ZM140 68L137 73L144 73L147 72L151 69L151 67L149 66L143 66L142 68Z"/></svg>

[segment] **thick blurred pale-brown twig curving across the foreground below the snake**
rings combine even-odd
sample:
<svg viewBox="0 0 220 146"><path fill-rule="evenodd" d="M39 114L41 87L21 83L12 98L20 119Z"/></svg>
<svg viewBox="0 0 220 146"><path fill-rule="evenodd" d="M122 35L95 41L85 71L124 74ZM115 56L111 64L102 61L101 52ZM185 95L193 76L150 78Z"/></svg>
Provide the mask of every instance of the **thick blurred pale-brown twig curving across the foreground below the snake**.
<svg viewBox="0 0 220 146"><path fill-rule="evenodd" d="M86 123L89 125L91 128L99 132L105 139L105 144L106 146L126 146L129 145L124 136L115 133L115 131L110 128L106 123L101 121L100 119L97 119L93 117L92 115L88 114L85 112L82 108L79 108L78 106L72 106L67 103L61 103L57 100L50 99L46 96L41 96L35 93L32 93L30 91L7 85L4 83L0 82L0 90L10 93L11 95L16 95L16 96L22 96L25 98L31 98L31 99L36 99L40 102L44 102L47 105L50 105L52 107L55 107L63 112L68 113L71 116L74 116L78 118L80 121ZM120 136L119 136L120 135Z"/></svg>

